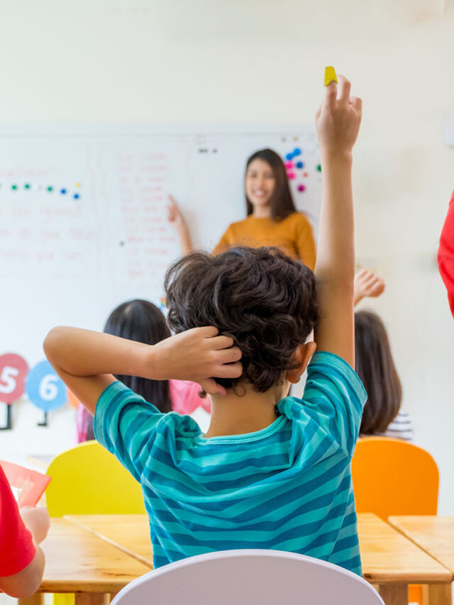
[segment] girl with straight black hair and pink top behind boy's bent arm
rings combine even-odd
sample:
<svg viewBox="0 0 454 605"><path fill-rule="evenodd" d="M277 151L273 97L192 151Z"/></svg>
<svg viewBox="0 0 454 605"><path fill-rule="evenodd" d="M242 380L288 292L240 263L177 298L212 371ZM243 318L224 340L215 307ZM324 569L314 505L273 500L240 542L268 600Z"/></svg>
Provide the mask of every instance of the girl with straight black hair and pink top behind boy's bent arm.
<svg viewBox="0 0 454 605"><path fill-rule="evenodd" d="M107 318L106 334L128 338L138 343L155 345L170 338L165 316L150 301L135 299L118 305ZM200 387L194 382L180 380L150 380L140 376L116 374L126 387L142 396L161 412L171 410L190 413L197 406L210 410L210 402L199 397ZM93 416L82 404L77 408L77 441L94 439Z"/></svg>

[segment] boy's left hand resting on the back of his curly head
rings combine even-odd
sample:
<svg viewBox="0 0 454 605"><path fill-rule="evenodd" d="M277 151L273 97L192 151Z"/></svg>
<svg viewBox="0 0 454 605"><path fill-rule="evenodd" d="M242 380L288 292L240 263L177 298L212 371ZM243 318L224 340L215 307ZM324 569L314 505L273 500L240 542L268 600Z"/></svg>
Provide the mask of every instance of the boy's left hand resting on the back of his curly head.
<svg viewBox="0 0 454 605"><path fill-rule="evenodd" d="M191 380L210 394L225 394L212 377L240 377L240 359L233 338L219 336L218 329L209 326L192 328L153 345L150 364L154 379Z"/></svg>

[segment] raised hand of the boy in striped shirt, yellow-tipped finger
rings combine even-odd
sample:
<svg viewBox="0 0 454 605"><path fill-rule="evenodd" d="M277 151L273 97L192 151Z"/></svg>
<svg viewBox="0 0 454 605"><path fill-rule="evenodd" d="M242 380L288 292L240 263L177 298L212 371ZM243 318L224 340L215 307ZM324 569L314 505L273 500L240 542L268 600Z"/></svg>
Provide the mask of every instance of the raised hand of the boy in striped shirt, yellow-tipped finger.
<svg viewBox="0 0 454 605"><path fill-rule="evenodd" d="M360 130L362 101L350 96L348 79L338 76L338 81L326 87L315 116L322 155L350 155Z"/></svg>

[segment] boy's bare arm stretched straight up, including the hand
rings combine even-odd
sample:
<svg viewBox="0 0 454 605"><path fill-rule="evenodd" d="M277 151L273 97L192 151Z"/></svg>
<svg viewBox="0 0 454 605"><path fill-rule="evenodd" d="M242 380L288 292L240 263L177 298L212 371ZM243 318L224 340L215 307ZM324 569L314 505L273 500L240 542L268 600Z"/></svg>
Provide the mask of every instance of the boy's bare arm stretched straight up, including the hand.
<svg viewBox="0 0 454 605"><path fill-rule="evenodd" d="M350 82L339 76L328 84L316 113L322 168L319 249L316 261L320 321L317 349L336 353L355 367L353 280L355 244L352 150L361 121L361 99L350 96Z"/></svg>

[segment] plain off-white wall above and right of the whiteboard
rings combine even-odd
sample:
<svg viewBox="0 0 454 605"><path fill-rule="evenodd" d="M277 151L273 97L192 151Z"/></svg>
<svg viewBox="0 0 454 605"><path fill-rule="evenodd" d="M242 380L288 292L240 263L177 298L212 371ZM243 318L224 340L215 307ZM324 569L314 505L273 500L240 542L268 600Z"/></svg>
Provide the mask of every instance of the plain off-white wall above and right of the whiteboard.
<svg viewBox="0 0 454 605"><path fill-rule="evenodd" d="M370 306L389 328L417 441L440 466L440 512L454 514L454 321L436 270L454 188L454 149L443 143L453 2L1 0L0 9L6 123L307 122L325 65L352 79L364 99L358 259L387 279Z"/></svg>

